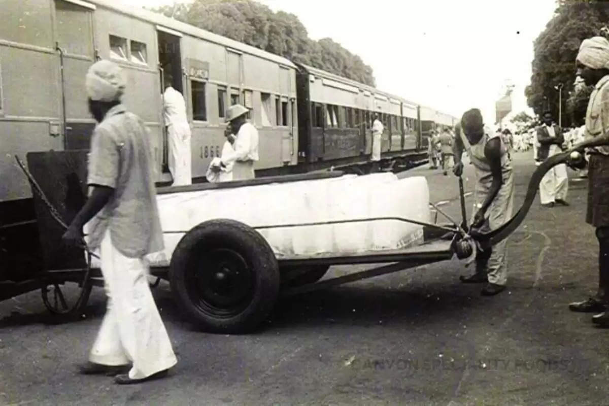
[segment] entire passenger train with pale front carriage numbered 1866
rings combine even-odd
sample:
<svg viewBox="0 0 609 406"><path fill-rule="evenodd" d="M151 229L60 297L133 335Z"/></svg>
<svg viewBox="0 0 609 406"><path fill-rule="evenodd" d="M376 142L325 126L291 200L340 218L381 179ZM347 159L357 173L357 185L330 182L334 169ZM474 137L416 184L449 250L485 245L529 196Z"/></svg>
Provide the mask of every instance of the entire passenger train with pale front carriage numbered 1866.
<svg viewBox="0 0 609 406"><path fill-rule="evenodd" d="M155 176L166 168L161 88L171 71L192 127L192 173L204 180L224 143L228 105L242 103L259 131L256 176L334 167L356 170L371 153L371 113L385 125L385 167L424 156L426 135L454 117L292 63L157 13L110 0L7 0L0 24L0 237L35 218L15 155L88 149L94 121L84 80L99 58L124 69L127 108L152 135ZM0 241L0 248L2 242Z"/></svg>

